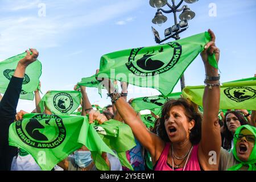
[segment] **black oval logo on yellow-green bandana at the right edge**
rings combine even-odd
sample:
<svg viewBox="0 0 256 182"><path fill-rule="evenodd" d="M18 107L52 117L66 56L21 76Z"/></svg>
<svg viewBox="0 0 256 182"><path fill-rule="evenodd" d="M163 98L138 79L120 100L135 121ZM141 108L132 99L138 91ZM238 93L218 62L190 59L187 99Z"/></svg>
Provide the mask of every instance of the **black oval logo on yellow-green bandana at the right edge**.
<svg viewBox="0 0 256 182"><path fill-rule="evenodd" d="M246 86L235 86L224 90L225 95L233 101L243 102L256 97L256 90Z"/></svg>

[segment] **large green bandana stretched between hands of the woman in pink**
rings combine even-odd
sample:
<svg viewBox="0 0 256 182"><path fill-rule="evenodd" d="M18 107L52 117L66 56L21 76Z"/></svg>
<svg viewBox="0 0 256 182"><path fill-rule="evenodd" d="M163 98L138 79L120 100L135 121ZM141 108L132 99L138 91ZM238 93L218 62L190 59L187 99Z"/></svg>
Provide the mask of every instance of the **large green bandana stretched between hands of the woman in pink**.
<svg viewBox="0 0 256 182"><path fill-rule="evenodd" d="M167 96L209 41L209 33L204 32L158 46L108 53L101 57L97 76L155 88Z"/></svg>

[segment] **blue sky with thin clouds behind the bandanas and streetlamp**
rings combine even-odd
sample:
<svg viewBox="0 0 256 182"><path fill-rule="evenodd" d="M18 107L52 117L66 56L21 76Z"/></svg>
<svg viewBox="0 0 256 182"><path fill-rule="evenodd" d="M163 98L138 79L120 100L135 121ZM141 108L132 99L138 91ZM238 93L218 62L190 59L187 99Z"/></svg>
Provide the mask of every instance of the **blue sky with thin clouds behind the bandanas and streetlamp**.
<svg viewBox="0 0 256 182"><path fill-rule="evenodd" d="M121 49L153 46L154 26L164 37L164 30L174 24L172 14L162 27L151 23L156 9L148 0L1 0L0 60L33 47L39 51L43 65L40 78L42 92L72 90L82 77L92 76L100 65L100 57ZM178 1L176 1L178 2ZM39 16L41 4L46 16ZM217 16L209 16L210 3L215 3ZM185 3L183 3L185 5ZM181 38L211 28L221 49L221 81L252 77L256 73L256 1L199 0L187 4L196 13ZM163 7L167 9L167 7ZM204 67L200 56L185 71L186 85L202 85ZM88 88L92 103L110 104ZM180 91L177 84L174 92ZM129 98L158 94L154 89L130 86ZM19 101L17 110L31 111L34 101Z"/></svg>

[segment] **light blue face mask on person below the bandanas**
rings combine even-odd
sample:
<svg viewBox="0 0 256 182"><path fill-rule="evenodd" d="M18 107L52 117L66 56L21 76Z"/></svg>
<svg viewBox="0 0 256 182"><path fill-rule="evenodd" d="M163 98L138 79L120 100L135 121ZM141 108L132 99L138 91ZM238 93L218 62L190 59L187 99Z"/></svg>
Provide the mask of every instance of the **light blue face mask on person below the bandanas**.
<svg viewBox="0 0 256 182"><path fill-rule="evenodd" d="M92 158L90 156L90 151L76 151L74 154L75 163L77 166L84 168L92 163Z"/></svg>

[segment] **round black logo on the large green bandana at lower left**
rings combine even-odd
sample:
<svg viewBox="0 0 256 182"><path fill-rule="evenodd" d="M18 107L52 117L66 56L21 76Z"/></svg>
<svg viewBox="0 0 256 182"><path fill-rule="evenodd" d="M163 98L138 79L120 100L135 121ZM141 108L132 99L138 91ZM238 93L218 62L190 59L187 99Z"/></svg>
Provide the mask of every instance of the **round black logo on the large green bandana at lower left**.
<svg viewBox="0 0 256 182"><path fill-rule="evenodd" d="M57 115L38 114L17 121L15 127L20 140L35 148L55 148L66 137L63 121Z"/></svg>

